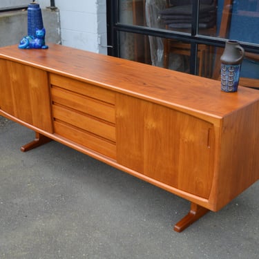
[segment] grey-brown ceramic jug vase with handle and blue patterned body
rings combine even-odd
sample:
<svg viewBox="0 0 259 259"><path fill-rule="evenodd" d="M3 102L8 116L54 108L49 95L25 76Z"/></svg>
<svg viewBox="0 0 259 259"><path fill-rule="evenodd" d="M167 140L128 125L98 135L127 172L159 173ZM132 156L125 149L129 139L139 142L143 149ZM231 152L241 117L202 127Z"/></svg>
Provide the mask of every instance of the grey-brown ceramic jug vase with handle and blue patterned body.
<svg viewBox="0 0 259 259"><path fill-rule="evenodd" d="M240 68L244 58L244 49L238 41L227 41L221 61L221 90L236 92L238 90Z"/></svg>

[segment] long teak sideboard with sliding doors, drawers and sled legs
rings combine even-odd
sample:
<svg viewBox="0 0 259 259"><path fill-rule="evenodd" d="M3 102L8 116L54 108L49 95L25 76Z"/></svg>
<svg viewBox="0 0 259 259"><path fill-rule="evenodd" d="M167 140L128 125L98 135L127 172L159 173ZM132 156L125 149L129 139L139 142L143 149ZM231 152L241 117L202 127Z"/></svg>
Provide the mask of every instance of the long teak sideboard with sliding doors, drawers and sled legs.
<svg viewBox="0 0 259 259"><path fill-rule="evenodd" d="M49 44L0 48L0 115L191 202L182 231L259 178L259 91Z"/></svg>

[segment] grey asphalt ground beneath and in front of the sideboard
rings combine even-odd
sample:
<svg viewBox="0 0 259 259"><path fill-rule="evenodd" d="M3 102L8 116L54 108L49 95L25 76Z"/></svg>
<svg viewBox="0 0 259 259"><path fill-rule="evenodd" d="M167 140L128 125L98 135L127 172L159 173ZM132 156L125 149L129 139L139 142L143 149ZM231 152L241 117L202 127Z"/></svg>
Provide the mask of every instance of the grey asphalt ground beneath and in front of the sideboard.
<svg viewBox="0 0 259 259"><path fill-rule="evenodd" d="M182 233L189 202L0 117L0 258L259 258L259 181Z"/></svg>

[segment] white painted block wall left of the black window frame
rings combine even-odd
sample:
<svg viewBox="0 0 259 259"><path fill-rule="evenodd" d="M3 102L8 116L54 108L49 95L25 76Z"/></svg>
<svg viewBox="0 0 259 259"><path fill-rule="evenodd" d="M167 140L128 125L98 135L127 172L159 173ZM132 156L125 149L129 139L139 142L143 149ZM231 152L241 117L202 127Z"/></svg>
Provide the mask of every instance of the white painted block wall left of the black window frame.
<svg viewBox="0 0 259 259"><path fill-rule="evenodd" d="M50 0L36 2L41 8L50 6ZM55 6L60 12L62 45L107 54L106 0L55 0Z"/></svg>

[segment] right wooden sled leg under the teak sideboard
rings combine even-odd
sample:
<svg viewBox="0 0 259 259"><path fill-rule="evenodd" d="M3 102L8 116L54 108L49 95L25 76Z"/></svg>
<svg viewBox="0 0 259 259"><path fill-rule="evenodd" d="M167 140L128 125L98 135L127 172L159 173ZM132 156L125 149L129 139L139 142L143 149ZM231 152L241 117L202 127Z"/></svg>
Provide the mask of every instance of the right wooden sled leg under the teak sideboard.
<svg viewBox="0 0 259 259"><path fill-rule="evenodd" d="M175 224L173 230L177 232L182 232L184 229L186 229L186 227L189 227L191 224L193 224L193 222L195 222L199 218L202 218L202 216L205 215L207 212L209 212L209 209L206 209L198 204L191 202L191 209L189 213L184 218L182 218L182 220Z"/></svg>

